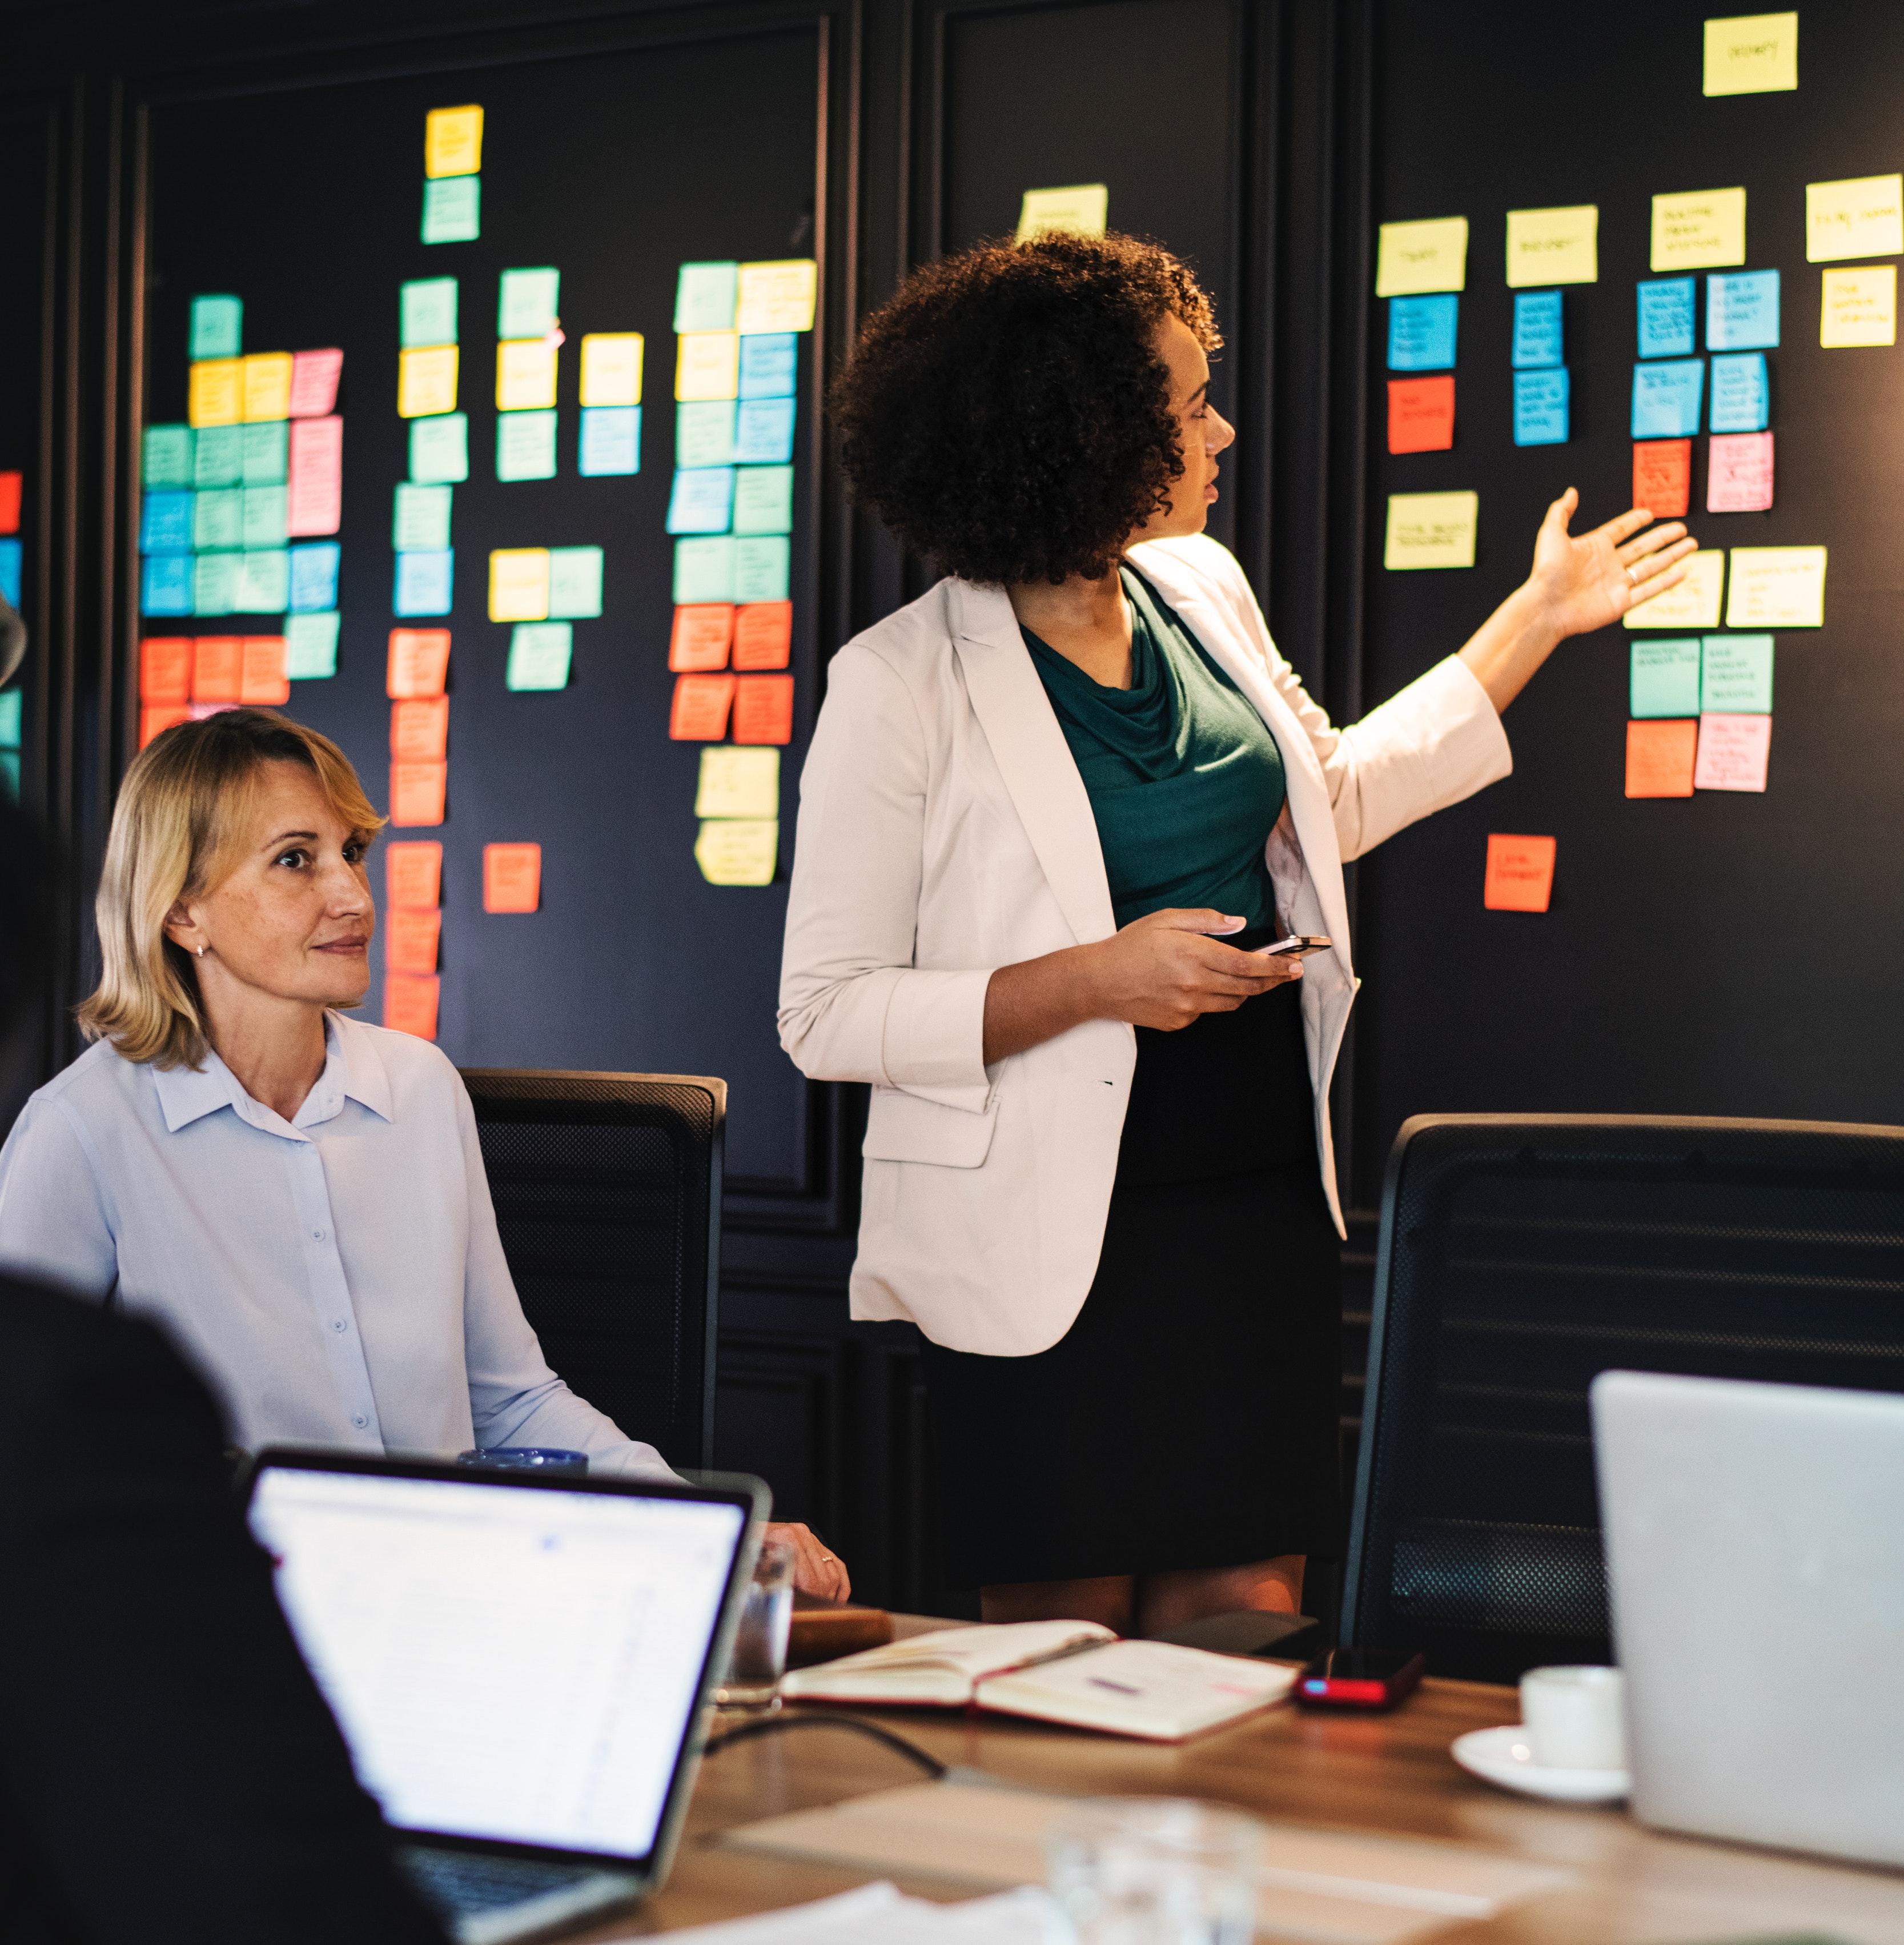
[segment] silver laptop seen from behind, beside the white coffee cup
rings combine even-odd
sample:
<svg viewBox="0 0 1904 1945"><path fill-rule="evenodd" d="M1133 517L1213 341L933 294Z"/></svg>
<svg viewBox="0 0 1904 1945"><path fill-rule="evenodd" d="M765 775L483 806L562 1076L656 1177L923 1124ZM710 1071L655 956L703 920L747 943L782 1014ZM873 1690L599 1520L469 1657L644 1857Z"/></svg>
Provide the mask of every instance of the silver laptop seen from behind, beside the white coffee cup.
<svg viewBox="0 0 1904 1945"><path fill-rule="evenodd" d="M1641 1822L1904 1863L1904 1398L1593 1381Z"/></svg>

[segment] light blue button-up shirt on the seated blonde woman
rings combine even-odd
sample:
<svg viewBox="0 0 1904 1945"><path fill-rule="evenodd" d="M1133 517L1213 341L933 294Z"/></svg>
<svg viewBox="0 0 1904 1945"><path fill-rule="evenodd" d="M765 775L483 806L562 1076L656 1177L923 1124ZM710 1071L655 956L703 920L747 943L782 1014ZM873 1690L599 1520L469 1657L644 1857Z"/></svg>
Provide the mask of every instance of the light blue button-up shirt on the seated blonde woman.
<svg viewBox="0 0 1904 1945"><path fill-rule="evenodd" d="M0 1149L0 1266L163 1323L251 1449L566 1445L671 1476L543 1360L457 1070L338 1013L325 1041L290 1122L214 1052L82 1054Z"/></svg>

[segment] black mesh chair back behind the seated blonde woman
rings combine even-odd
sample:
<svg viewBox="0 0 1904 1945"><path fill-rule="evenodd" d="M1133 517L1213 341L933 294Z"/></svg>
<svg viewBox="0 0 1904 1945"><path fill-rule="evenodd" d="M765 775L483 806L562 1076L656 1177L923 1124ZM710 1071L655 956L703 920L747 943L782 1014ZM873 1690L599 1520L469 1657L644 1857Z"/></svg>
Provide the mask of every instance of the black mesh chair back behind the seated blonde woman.
<svg viewBox="0 0 1904 1945"><path fill-rule="evenodd" d="M710 1467L727 1083L500 1068L463 1081L550 1369L669 1463Z"/></svg>

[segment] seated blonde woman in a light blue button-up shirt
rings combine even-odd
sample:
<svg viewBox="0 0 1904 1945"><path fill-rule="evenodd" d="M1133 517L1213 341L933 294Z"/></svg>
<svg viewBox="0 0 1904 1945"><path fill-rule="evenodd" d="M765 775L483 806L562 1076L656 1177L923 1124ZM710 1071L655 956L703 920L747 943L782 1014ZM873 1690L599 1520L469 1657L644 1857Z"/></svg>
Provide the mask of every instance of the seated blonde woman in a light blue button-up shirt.
<svg viewBox="0 0 1904 1945"><path fill-rule="evenodd" d="M161 1321L241 1445L562 1445L673 1476L548 1369L496 1235L463 1081L348 1019L383 819L344 753L266 710L159 735L99 885L99 1044L0 1149L0 1264ZM844 1566L805 1527L809 1593Z"/></svg>

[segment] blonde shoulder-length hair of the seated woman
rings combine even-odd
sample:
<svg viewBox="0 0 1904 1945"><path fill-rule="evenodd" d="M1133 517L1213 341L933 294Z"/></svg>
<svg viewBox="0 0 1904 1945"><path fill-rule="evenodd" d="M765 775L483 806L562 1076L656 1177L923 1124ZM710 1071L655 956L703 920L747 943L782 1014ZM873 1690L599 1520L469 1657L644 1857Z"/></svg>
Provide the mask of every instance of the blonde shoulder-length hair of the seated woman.
<svg viewBox="0 0 1904 1945"><path fill-rule="evenodd" d="M119 786L105 846L95 906L103 971L78 1015L89 1041L111 1041L126 1060L159 1068L196 1068L204 1058L198 969L165 937L165 916L231 871L266 762L303 764L354 831L373 836L383 827L350 759L276 710L222 710L156 735Z"/></svg>

